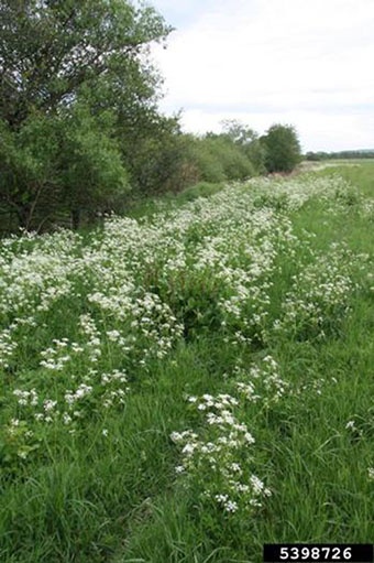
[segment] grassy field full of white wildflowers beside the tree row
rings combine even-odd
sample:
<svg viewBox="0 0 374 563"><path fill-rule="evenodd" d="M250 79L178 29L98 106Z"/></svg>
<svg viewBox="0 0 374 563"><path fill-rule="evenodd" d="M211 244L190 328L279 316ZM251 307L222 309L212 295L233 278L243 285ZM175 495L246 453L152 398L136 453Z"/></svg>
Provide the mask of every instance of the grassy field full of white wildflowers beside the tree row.
<svg viewBox="0 0 374 563"><path fill-rule="evenodd" d="M371 542L374 164L0 250L3 563Z"/></svg>

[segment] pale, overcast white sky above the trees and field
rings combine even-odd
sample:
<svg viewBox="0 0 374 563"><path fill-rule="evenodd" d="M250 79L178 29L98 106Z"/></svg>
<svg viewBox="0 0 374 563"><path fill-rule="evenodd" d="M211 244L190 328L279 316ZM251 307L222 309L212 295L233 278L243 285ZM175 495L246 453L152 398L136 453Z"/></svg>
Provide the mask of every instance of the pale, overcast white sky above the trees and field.
<svg viewBox="0 0 374 563"><path fill-rule="evenodd" d="M185 131L293 124L302 150L374 148L374 0L148 0L166 115Z"/></svg>

